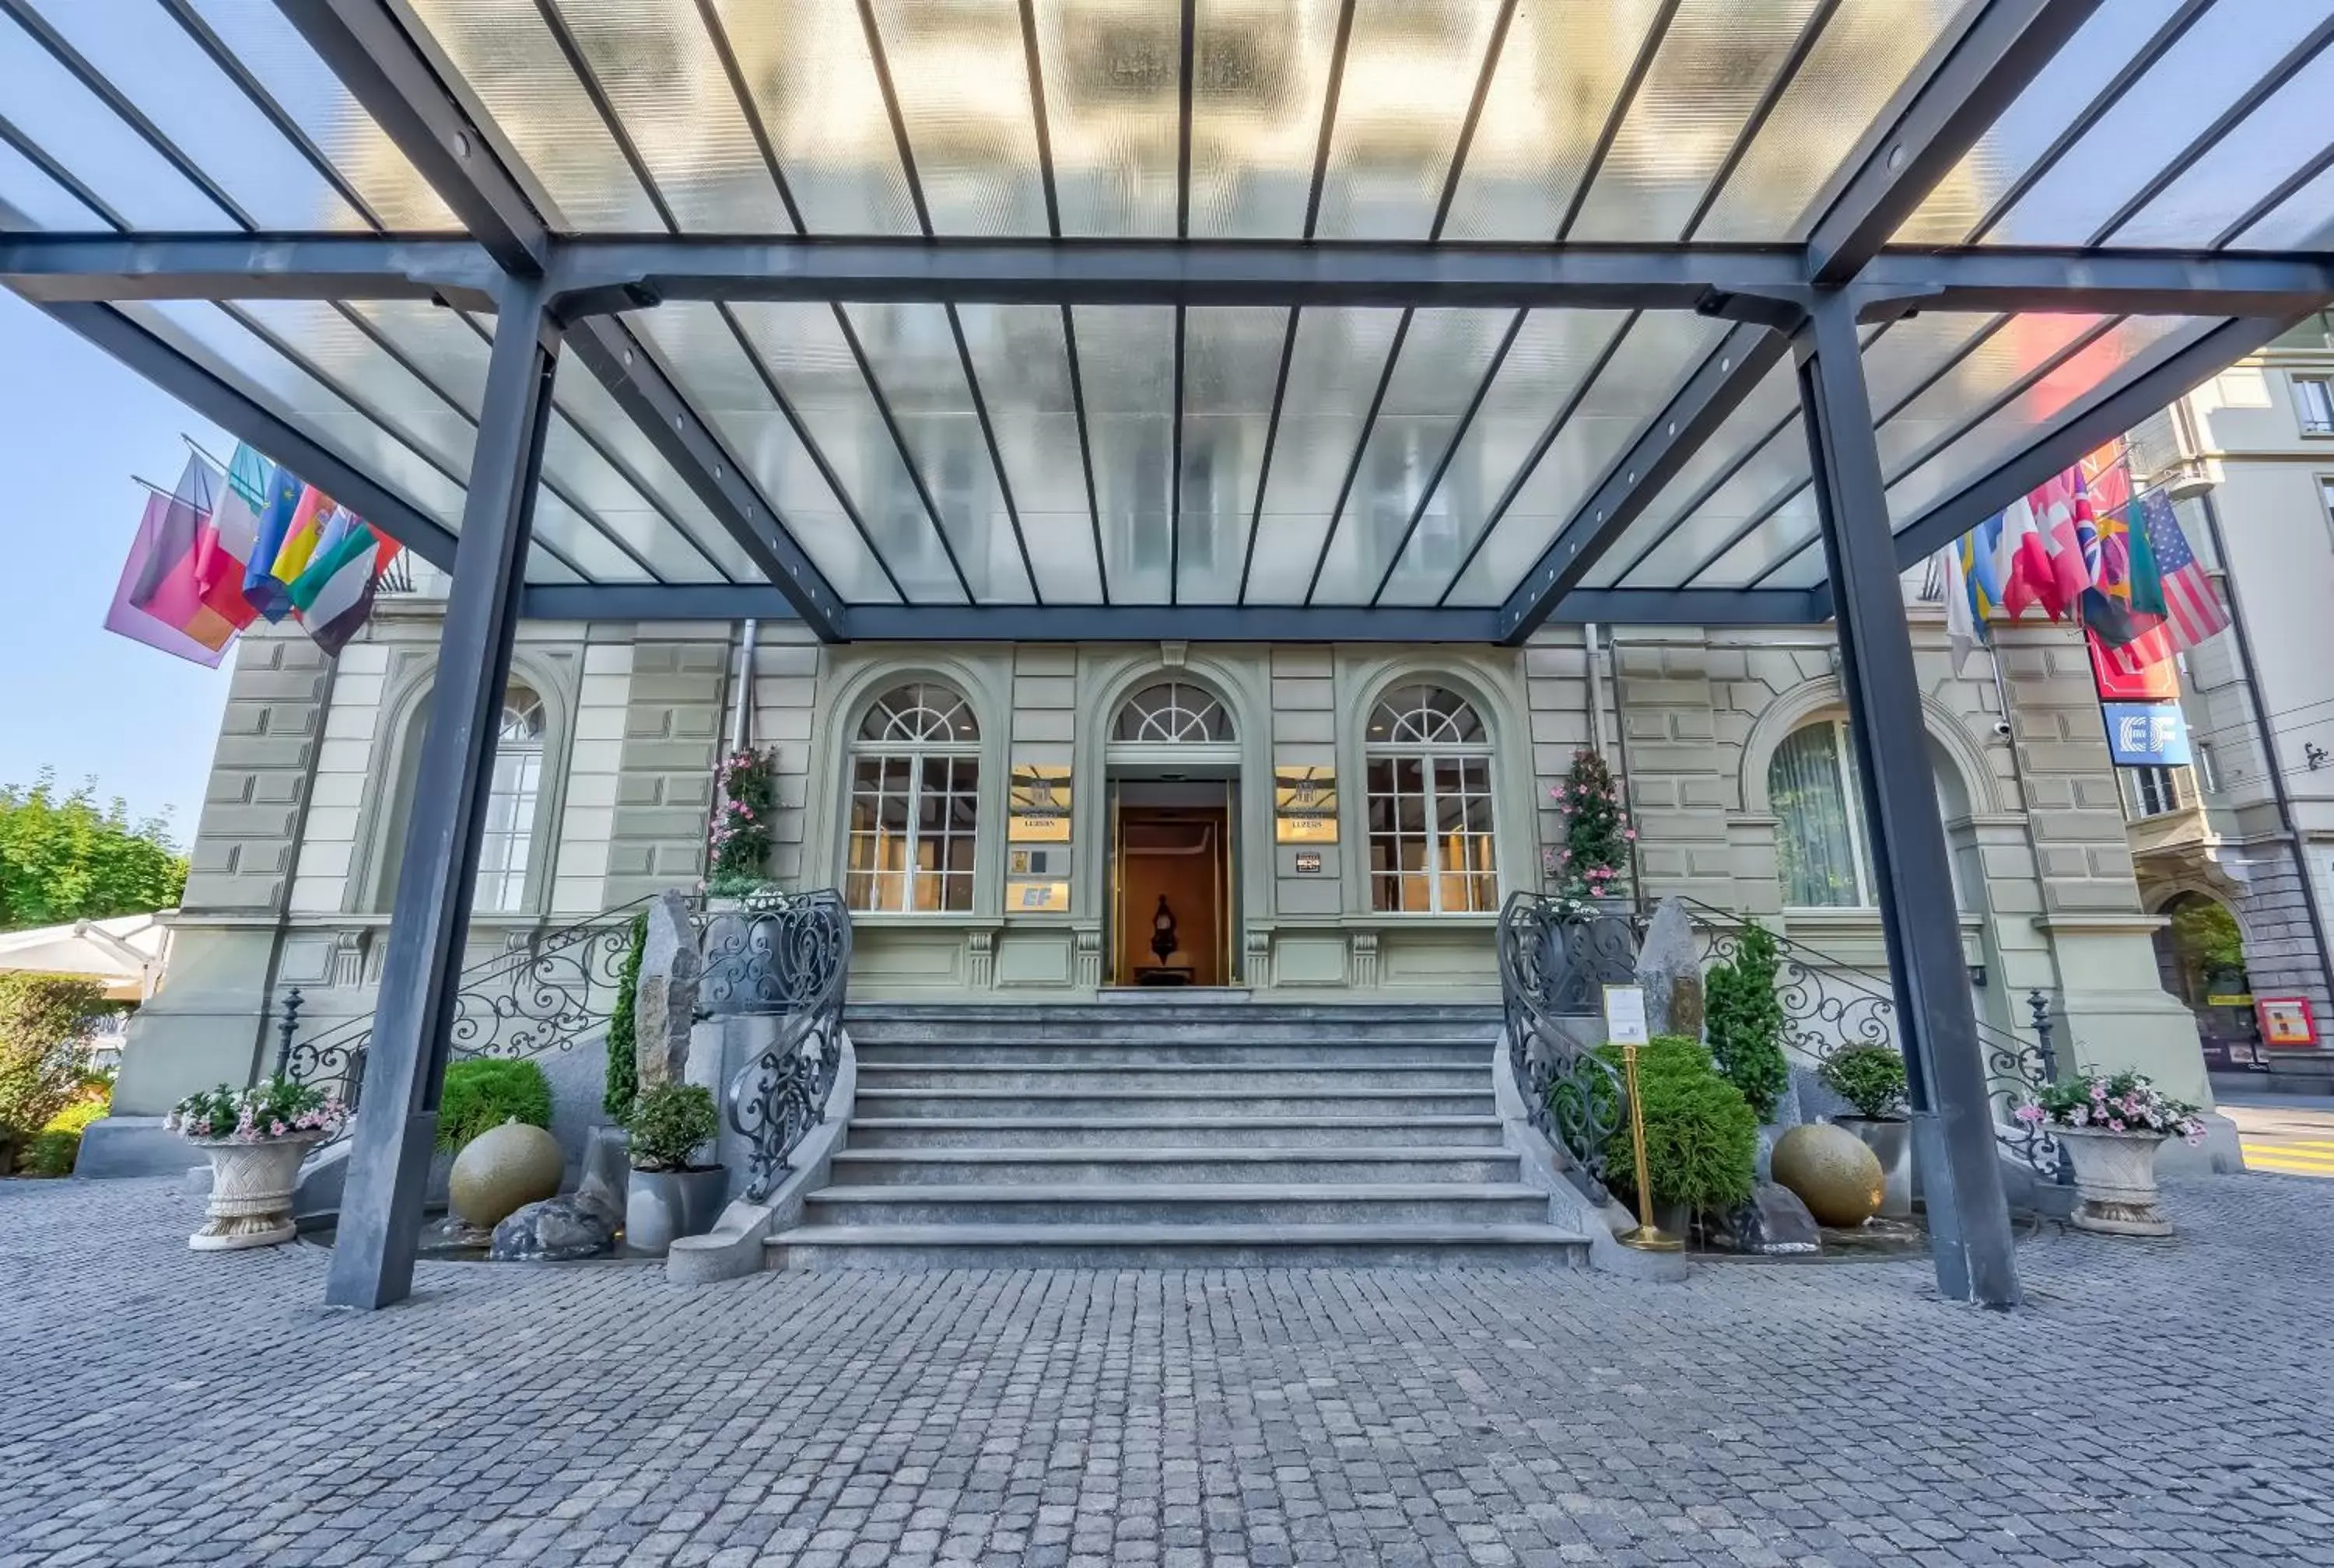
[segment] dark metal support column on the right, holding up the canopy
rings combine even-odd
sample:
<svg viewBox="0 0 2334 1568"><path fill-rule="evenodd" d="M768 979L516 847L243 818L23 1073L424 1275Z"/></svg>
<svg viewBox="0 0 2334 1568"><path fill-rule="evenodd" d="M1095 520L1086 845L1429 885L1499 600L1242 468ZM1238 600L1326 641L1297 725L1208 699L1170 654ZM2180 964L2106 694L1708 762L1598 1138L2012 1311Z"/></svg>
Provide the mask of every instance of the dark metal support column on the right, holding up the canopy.
<svg viewBox="0 0 2334 1568"><path fill-rule="evenodd" d="M1839 621L1839 672L1902 1020L1914 1160L1928 1195L1937 1290L2019 1302L1993 1104L1961 954L1944 819L1921 728L1921 681L1888 534L1856 308L1823 292L1800 331L1800 406Z"/></svg>

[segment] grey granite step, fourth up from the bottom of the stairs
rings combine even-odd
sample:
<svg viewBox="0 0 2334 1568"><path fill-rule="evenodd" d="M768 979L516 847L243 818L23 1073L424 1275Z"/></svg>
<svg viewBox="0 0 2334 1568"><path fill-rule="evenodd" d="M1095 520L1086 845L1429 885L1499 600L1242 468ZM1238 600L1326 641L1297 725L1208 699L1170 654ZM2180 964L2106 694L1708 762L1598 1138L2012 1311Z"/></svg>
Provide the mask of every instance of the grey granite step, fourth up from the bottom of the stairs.
<svg viewBox="0 0 2334 1568"><path fill-rule="evenodd" d="M1496 1115L854 1115L878 1148L1498 1148Z"/></svg>

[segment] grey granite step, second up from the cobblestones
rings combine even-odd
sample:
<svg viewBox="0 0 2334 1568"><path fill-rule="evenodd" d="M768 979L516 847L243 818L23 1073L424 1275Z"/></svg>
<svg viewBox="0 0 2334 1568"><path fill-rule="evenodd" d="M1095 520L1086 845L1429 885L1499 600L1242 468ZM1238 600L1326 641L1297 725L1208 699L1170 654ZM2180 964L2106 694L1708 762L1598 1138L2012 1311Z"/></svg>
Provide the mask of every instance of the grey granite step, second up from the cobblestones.
<svg viewBox="0 0 2334 1568"><path fill-rule="evenodd" d="M950 1183L833 1185L805 1225L1501 1225L1547 1218L1522 1183Z"/></svg>

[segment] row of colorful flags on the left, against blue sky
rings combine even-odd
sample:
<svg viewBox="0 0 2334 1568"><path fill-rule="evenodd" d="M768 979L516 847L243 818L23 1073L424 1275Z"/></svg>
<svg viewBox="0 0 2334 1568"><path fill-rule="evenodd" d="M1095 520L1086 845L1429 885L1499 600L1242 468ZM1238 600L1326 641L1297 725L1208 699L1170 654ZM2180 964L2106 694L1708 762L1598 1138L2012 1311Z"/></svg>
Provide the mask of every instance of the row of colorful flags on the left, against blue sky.
<svg viewBox="0 0 2334 1568"><path fill-rule="evenodd" d="M107 630L217 667L236 632L285 616L338 653L373 614L399 544L315 485L238 446L222 476L201 455L147 499Z"/></svg>

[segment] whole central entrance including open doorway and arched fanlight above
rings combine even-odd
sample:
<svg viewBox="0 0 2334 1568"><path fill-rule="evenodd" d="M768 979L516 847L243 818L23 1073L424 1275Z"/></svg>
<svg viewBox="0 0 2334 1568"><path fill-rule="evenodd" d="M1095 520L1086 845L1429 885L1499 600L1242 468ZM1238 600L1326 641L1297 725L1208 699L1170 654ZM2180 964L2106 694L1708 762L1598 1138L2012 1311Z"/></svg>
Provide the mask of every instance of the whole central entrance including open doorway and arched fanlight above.
<svg viewBox="0 0 2334 1568"><path fill-rule="evenodd" d="M1106 763L1104 985L1235 985L1239 744L1230 714L1204 686L1155 681L1118 709Z"/></svg>

